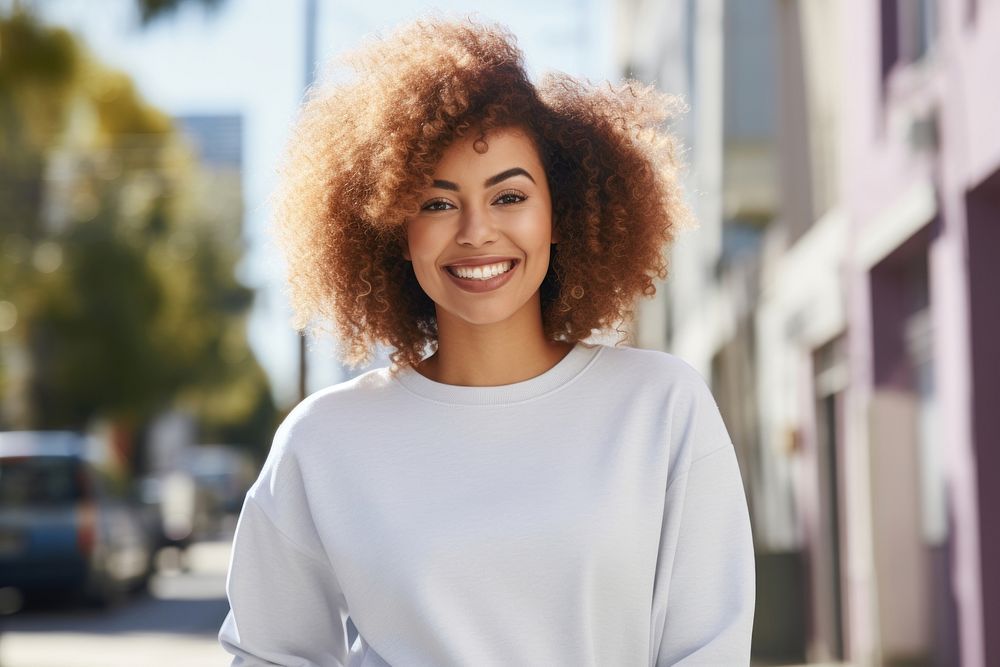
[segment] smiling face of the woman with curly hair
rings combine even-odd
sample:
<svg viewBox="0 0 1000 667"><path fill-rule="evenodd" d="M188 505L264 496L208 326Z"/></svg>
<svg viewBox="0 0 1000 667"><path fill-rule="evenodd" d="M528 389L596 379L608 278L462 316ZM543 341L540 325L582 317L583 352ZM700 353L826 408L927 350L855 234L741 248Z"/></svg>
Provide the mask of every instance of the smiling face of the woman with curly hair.
<svg viewBox="0 0 1000 667"><path fill-rule="evenodd" d="M534 143L514 128L458 139L441 157L420 212L406 221L404 257L443 316L469 324L540 308L549 267L552 200ZM478 144L482 149L482 141ZM442 313L444 311L444 313Z"/></svg>

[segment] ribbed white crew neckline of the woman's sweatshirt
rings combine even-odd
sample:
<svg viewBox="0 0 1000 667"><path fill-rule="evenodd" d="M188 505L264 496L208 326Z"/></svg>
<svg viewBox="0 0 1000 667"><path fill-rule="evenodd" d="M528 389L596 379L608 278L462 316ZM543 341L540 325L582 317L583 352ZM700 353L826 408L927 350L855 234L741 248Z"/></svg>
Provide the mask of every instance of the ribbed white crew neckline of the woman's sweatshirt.
<svg viewBox="0 0 1000 667"><path fill-rule="evenodd" d="M523 403L548 394L571 382L600 355L603 345L578 342L559 362L541 375L492 387L465 387L444 384L405 368L395 380L409 392L438 403L454 405L504 405Z"/></svg>

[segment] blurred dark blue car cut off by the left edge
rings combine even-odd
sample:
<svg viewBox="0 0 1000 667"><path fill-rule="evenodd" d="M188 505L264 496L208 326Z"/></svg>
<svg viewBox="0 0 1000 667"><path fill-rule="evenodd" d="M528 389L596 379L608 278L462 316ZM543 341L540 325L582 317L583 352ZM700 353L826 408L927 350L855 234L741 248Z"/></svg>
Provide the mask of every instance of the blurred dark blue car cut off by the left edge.
<svg viewBox="0 0 1000 667"><path fill-rule="evenodd" d="M0 433L0 589L103 606L148 581L141 510L95 445L73 432Z"/></svg>

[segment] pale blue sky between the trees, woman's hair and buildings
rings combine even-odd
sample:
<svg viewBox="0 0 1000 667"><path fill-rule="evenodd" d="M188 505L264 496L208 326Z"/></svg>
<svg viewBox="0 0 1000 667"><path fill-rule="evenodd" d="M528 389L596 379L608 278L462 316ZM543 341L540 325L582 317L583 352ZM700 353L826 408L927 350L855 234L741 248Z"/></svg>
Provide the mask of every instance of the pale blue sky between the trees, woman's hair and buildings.
<svg viewBox="0 0 1000 667"><path fill-rule="evenodd" d="M7 4L7 3L4 3ZM172 115L239 113L244 118L243 188L249 252L240 277L258 290L250 342L280 404L293 403L297 342L288 323L280 259L263 234L274 170L303 94L305 0L226 0L190 5L141 29L132 0L44 0L51 23L76 31L98 57L129 73L150 102ZM614 79L610 0L319 1L319 61L428 11L472 14L509 26L533 76L560 70ZM309 389L342 379L328 345L310 353Z"/></svg>

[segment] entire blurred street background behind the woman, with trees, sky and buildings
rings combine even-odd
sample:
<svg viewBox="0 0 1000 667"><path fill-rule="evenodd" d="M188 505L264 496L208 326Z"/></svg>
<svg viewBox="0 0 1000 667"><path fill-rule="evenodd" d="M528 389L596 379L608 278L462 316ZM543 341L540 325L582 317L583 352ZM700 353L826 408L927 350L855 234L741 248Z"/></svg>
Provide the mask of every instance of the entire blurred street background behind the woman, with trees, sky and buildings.
<svg viewBox="0 0 1000 667"><path fill-rule="evenodd" d="M433 7L690 107L630 335L733 436L755 664L1000 665L1000 2ZM274 428L364 370L290 327L275 167L319 63L429 8L0 0L0 666L228 664Z"/></svg>

